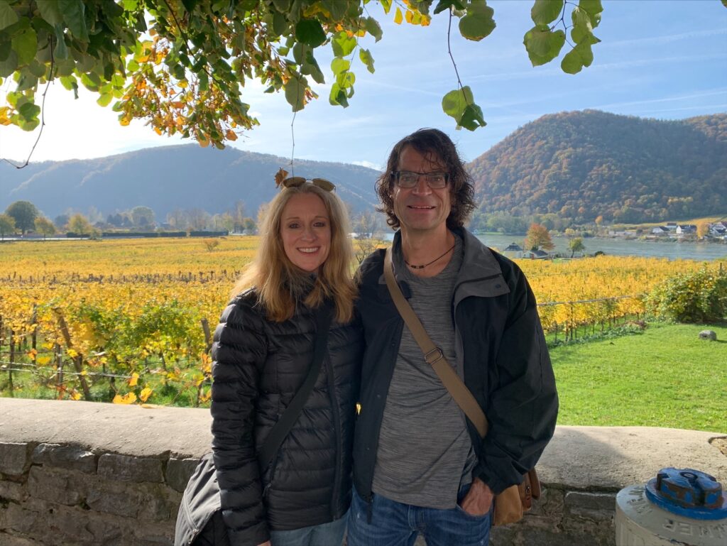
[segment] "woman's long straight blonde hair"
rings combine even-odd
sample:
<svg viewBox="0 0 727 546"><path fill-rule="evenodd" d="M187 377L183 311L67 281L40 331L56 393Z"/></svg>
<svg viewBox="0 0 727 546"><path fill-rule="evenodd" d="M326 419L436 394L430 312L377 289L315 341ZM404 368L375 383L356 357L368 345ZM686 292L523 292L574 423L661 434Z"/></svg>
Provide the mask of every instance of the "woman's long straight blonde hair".
<svg viewBox="0 0 727 546"><path fill-rule="evenodd" d="M335 193L321 190L308 182L296 188L283 188L268 204L260 228L260 248L235 284L232 297L254 286L270 320L282 322L292 318L297 305L294 294L300 294L300 289L310 283L310 276L297 268L286 255L280 225L288 201L293 196L306 193L318 196L326 206L331 225L331 247L326 261L318 269L313 288L302 302L310 308L317 308L325 300L333 300L334 318L345 323L353 318L353 300L357 294L350 273L353 249L348 238L348 214Z"/></svg>

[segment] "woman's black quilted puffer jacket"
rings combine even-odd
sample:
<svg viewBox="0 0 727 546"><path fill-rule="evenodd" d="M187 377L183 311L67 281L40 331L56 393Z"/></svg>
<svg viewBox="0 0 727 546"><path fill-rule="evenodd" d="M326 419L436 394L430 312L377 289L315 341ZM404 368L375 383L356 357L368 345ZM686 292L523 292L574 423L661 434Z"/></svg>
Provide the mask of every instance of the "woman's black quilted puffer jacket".
<svg viewBox="0 0 727 546"><path fill-rule="evenodd" d="M268 321L253 290L236 297L214 332L212 451L232 546L268 529L334 521L348 510L362 340L356 324L331 326L328 354L299 419L268 468L257 450L305 380L316 324L308 309Z"/></svg>

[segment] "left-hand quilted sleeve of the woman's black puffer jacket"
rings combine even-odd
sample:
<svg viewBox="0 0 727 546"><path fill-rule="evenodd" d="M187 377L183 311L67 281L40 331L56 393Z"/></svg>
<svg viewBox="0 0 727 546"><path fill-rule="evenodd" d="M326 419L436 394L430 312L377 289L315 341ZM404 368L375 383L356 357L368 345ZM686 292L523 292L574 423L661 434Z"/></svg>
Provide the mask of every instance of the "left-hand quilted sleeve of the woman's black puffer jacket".
<svg viewBox="0 0 727 546"><path fill-rule="evenodd" d="M230 546L257 546L270 538L254 443L255 401L267 355L262 321L252 305L235 300L214 332L212 452Z"/></svg>

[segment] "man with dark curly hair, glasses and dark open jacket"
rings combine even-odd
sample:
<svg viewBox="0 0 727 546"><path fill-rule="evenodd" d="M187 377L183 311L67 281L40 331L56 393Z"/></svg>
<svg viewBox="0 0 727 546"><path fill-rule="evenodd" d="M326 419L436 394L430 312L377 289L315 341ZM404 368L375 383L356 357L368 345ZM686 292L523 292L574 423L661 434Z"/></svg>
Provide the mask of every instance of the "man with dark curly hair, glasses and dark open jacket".
<svg viewBox="0 0 727 546"><path fill-rule="evenodd" d="M402 292L489 421L480 438L414 342L383 276L361 265L366 354L349 546L485 545L494 495L522 481L555 430L558 395L523 273L462 228L470 176L451 142L420 129L396 144L377 191L399 228Z"/></svg>

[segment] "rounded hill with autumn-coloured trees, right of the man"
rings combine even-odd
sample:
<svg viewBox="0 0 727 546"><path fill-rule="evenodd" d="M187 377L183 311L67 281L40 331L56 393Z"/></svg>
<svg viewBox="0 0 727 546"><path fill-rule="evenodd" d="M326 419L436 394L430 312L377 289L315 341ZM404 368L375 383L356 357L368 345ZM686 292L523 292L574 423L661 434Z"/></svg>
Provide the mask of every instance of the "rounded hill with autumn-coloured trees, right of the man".
<svg viewBox="0 0 727 546"><path fill-rule="evenodd" d="M727 212L727 114L543 116L470 165L483 212L638 222Z"/></svg>

